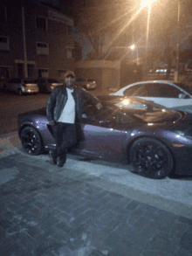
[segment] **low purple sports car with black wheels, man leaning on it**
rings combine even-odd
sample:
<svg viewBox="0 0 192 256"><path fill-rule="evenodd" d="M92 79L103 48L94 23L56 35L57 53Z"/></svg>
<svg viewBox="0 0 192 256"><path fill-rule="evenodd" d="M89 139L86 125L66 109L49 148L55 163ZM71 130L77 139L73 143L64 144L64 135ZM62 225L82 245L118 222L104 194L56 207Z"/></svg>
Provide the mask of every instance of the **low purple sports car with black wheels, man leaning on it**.
<svg viewBox="0 0 192 256"><path fill-rule="evenodd" d="M78 125L79 141L70 151L132 164L134 172L151 178L170 173L192 175L192 114L152 101L101 96L103 107L87 105ZM32 156L53 149L45 108L19 114L18 134Z"/></svg>

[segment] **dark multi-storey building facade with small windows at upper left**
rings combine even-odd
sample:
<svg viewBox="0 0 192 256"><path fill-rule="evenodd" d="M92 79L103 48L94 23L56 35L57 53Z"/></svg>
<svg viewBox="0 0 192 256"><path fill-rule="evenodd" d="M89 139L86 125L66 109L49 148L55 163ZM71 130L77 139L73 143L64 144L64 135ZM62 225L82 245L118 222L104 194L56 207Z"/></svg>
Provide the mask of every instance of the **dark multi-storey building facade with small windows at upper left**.
<svg viewBox="0 0 192 256"><path fill-rule="evenodd" d="M1 80L55 78L74 71L73 20L43 4L0 5Z"/></svg>

